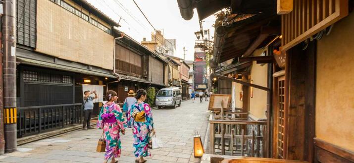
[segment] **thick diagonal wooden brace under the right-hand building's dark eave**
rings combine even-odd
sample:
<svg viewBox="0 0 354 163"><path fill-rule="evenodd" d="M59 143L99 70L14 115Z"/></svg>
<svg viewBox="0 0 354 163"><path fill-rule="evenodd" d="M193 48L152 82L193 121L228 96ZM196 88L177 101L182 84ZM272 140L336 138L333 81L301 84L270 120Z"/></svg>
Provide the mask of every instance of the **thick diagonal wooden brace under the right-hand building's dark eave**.
<svg viewBox="0 0 354 163"><path fill-rule="evenodd" d="M252 45L246 50L246 52L242 55L243 57L250 56L254 50L265 40L269 35L280 33L280 27L269 27L264 26L261 29L258 37L254 40Z"/></svg>

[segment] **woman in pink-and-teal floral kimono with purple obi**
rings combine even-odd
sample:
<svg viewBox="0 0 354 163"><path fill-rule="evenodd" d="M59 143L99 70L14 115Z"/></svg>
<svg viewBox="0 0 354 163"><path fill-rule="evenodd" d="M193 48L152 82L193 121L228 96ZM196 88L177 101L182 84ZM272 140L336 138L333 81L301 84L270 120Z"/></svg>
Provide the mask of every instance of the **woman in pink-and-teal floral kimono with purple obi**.
<svg viewBox="0 0 354 163"><path fill-rule="evenodd" d="M114 103L118 99L117 93L109 90L105 98L107 99L107 103L102 106L97 123L98 128L103 129L106 141L104 163L107 163L110 158L112 159L111 163L118 163L115 158L120 157L122 149L119 132L125 133L127 123L123 118L123 113L119 105Z"/></svg>

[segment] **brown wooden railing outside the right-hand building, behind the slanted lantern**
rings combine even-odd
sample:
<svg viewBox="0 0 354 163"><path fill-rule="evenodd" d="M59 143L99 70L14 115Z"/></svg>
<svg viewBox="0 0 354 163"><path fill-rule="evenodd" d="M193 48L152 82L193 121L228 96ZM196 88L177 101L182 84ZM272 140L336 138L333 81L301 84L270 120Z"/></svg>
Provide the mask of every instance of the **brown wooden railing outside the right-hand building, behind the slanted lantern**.
<svg viewBox="0 0 354 163"><path fill-rule="evenodd" d="M223 115L223 116L222 116ZM247 112L212 112L210 154L263 157L265 121L248 121ZM261 145L262 144L262 145Z"/></svg>

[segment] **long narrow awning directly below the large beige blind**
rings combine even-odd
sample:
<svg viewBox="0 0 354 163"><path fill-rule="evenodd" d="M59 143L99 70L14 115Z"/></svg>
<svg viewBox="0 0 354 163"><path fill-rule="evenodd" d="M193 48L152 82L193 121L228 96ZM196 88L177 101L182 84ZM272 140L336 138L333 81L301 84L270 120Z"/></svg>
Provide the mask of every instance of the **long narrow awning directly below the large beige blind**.
<svg viewBox="0 0 354 163"><path fill-rule="evenodd" d="M96 75L96 76L102 76L102 77L117 78L114 75L109 74L109 73L103 73L103 72L97 72L97 71L92 71L92 70L88 70L88 69L70 67L67 65L59 65L59 64L55 64L55 63L38 61L38 60L34 60L34 59L16 57L16 61L21 64L25 64L25 65L35 65L35 66L40 66L40 67L54 68L54 69L59 69L59 70L64 70L64 71L83 73L83 74L87 74L87 75Z"/></svg>

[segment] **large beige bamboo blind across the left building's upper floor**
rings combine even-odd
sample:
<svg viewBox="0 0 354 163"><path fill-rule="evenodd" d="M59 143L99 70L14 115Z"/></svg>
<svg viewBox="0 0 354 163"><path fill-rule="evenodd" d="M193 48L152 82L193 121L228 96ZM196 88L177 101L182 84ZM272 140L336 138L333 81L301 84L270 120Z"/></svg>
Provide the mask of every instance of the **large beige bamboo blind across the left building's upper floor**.
<svg viewBox="0 0 354 163"><path fill-rule="evenodd" d="M37 0L36 51L113 69L113 36L50 0Z"/></svg>

